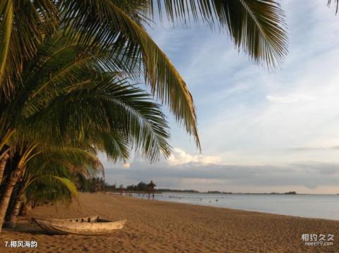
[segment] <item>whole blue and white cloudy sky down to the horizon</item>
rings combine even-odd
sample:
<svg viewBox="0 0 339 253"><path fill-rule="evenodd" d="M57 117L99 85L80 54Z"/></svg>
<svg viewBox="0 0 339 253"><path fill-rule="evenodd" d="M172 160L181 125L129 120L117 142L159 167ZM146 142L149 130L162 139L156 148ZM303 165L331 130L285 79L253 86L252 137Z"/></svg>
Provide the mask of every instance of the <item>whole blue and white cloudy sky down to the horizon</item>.
<svg viewBox="0 0 339 253"><path fill-rule="evenodd" d="M112 163L109 183L225 192L339 193L339 14L282 1L289 54L273 71L202 24L148 29L193 94L202 153L172 116L169 159Z"/></svg>

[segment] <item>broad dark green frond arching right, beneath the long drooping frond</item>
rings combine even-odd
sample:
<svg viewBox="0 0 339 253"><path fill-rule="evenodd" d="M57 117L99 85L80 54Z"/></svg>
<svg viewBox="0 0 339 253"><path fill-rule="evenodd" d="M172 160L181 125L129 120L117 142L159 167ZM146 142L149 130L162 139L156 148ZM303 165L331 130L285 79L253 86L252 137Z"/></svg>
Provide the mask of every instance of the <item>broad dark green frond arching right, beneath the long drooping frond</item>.
<svg viewBox="0 0 339 253"><path fill-rule="evenodd" d="M50 137L61 140L63 136L74 135L78 142L85 139L97 141L97 147L106 148L114 160L129 156L128 145L152 161L159 158L160 152L165 156L170 154L165 116L160 106L143 90L114 75L100 77L86 87L76 86L74 89L71 86L69 89L44 101L45 106L41 106L42 98L39 98L38 112L25 121L25 129L30 131L32 126L44 131L25 135L38 140Z"/></svg>

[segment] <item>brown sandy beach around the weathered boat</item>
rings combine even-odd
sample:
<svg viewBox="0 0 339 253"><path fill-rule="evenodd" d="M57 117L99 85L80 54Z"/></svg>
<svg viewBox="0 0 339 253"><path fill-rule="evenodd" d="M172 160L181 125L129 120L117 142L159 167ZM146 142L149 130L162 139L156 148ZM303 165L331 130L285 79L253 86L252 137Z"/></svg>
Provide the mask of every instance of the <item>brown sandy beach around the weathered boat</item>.
<svg viewBox="0 0 339 253"><path fill-rule="evenodd" d="M69 207L39 206L28 217L100 215L128 219L105 236L46 235L4 229L0 252L339 252L339 221L194 206L117 195L81 193ZM21 221L18 230L25 228ZM30 225L32 226L32 225ZM302 234L333 234L332 246L305 246ZM4 241L35 240L36 249Z"/></svg>

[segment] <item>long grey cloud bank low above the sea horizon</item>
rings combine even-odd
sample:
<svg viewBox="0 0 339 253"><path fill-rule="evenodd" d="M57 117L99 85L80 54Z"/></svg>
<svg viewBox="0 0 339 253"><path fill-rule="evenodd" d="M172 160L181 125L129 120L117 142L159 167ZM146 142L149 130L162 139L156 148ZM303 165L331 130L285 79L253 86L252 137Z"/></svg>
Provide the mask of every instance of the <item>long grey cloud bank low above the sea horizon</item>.
<svg viewBox="0 0 339 253"><path fill-rule="evenodd" d="M155 180L158 187L232 192L322 192L338 190L339 163L291 163L285 166L239 166L201 162L170 166L136 161L131 168L109 169L106 177L113 183L130 185ZM338 190L339 192L339 190Z"/></svg>

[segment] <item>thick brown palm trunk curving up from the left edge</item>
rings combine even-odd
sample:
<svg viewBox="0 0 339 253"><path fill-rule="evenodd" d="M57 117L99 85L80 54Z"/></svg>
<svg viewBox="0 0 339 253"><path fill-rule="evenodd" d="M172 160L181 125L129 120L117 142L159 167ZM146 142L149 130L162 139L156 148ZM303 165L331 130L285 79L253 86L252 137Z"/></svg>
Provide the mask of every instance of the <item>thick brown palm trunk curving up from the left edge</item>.
<svg viewBox="0 0 339 253"><path fill-rule="evenodd" d="M1 199L0 199L0 233L1 233L2 226L4 224L4 219L6 216L8 203L9 203L9 200L11 199L13 188L18 182L22 171L23 171L23 168L16 168L14 171L12 171L11 175L9 176L6 182L4 193L1 196Z"/></svg>

